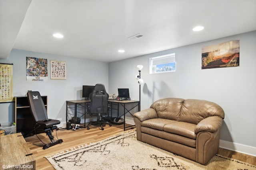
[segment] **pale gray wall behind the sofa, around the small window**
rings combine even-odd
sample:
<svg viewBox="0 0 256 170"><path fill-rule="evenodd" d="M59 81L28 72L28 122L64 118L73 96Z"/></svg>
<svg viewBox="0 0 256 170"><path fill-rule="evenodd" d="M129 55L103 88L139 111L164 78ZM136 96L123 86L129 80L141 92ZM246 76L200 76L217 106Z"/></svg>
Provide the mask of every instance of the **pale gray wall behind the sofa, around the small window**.
<svg viewBox="0 0 256 170"><path fill-rule="evenodd" d="M240 40L239 67L201 69L203 46L232 40ZM149 58L169 53L176 54L176 72L149 74ZM130 88L131 98L138 100L136 66L142 64L144 68L141 77L144 84L141 92L141 109L148 108L158 99L168 97L215 102L225 111L221 141L229 145L226 146L228 149L238 150L238 147L246 146L252 152L249 154L256 155L255 55L256 31L252 31L112 62L109 64L109 93L116 94L117 88ZM240 152L248 153L243 150Z"/></svg>

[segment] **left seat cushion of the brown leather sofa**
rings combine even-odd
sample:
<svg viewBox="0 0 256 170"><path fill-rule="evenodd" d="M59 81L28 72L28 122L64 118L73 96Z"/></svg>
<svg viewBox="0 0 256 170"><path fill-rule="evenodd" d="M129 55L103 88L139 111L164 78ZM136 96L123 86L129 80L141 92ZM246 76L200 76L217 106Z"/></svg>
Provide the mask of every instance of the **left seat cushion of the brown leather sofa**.
<svg viewBox="0 0 256 170"><path fill-rule="evenodd" d="M157 130L163 131L163 127L166 124L171 124L174 122L176 122L176 121L169 120L169 119L156 118L156 119L148 119L148 120L142 121L140 123L140 125L144 126L144 127L150 127L152 129L157 129Z"/></svg>

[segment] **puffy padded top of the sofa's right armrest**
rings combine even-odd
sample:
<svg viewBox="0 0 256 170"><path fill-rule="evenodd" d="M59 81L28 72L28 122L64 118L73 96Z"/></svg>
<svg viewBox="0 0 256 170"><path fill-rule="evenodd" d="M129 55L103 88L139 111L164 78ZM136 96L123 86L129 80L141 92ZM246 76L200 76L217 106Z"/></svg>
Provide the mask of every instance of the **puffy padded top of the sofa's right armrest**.
<svg viewBox="0 0 256 170"><path fill-rule="evenodd" d="M202 119L195 127L195 134L201 131L216 132L220 129L223 119L218 116L210 116Z"/></svg>

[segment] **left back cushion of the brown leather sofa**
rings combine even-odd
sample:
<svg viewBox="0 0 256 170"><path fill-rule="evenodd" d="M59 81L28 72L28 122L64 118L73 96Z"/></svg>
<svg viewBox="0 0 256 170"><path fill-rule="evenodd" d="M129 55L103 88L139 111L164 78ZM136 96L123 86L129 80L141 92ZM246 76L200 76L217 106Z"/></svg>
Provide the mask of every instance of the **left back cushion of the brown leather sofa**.
<svg viewBox="0 0 256 170"><path fill-rule="evenodd" d="M150 108L156 110L159 118L179 121L183 102L184 99L181 98L166 98L157 100Z"/></svg>

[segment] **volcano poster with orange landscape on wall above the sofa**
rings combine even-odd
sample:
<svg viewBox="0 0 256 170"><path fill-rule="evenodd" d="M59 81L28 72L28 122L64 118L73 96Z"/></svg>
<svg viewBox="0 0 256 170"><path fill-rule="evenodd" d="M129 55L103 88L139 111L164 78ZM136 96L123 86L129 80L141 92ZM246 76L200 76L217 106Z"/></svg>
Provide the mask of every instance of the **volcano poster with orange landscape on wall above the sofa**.
<svg viewBox="0 0 256 170"><path fill-rule="evenodd" d="M240 40L202 47L202 69L239 66Z"/></svg>

